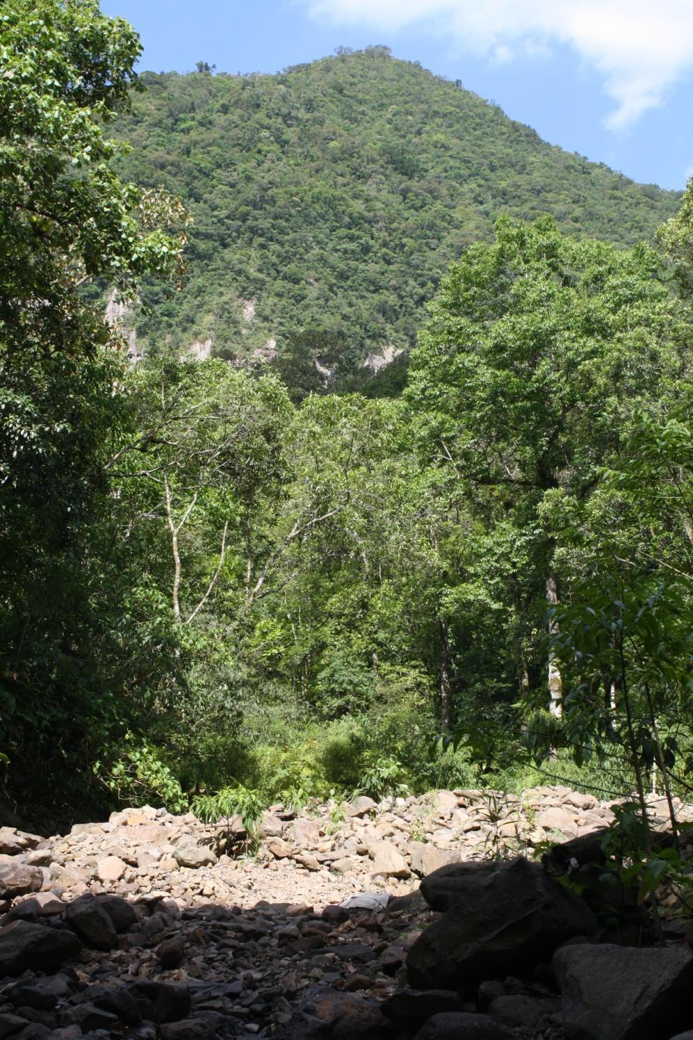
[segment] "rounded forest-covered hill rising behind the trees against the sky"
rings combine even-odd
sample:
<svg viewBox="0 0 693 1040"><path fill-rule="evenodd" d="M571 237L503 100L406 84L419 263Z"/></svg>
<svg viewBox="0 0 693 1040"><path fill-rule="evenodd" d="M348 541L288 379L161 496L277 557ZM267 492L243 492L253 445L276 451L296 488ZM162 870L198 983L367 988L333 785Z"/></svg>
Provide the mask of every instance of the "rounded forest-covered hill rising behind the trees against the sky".
<svg viewBox="0 0 693 1040"><path fill-rule="evenodd" d="M170 300L150 289L140 339L211 338L222 357L273 339L306 389L325 379L313 357L344 378L410 346L441 274L501 213L628 244L677 205L387 48L142 80L116 129L133 146L119 173L180 196L194 225L187 283Z"/></svg>

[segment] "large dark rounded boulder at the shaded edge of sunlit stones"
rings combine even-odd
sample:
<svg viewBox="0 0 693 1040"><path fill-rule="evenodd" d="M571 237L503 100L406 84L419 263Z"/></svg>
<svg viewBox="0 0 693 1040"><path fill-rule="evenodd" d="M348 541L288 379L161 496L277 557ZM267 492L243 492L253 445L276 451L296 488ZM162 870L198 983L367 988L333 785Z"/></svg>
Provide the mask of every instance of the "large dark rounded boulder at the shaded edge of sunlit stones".
<svg viewBox="0 0 693 1040"><path fill-rule="evenodd" d="M578 895L538 864L518 858L468 875L464 896L409 951L408 980L420 988L456 989L502 978L517 964L531 968L566 939L595 929L594 914Z"/></svg>

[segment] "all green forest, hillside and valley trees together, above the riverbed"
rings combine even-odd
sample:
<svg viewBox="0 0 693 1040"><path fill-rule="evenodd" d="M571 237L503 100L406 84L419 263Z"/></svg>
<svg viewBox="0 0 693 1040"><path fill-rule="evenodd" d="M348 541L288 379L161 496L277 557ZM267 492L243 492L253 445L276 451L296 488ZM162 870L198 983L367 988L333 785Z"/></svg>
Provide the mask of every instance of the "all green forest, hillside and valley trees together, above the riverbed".
<svg viewBox="0 0 693 1040"><path fill-rule="evenodd" d="M690 790L693 184L662 224L378 48L142 84L138 53L96 0L0 20L5 796ZM104 286L152 304L137 364ZM418 331L403 393L230 364L254 293L296 364Z"/></svg>

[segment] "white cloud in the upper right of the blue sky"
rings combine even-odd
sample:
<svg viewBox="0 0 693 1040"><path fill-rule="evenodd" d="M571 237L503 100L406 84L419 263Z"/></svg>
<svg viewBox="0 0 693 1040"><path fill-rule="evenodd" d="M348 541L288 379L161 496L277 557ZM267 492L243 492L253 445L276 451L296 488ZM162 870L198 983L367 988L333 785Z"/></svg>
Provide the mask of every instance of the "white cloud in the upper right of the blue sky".
<svg viewBox="0 0 693 1040"><path fill-rule="evenodd" d="M421 25L468 51L508 60L527 48L568 44L604 80L611 130L662 104L693 66L691 0L302 0L338 25L395 31Z"/></svg>

